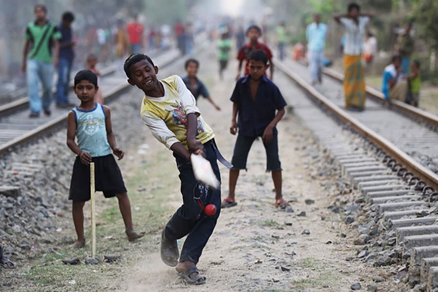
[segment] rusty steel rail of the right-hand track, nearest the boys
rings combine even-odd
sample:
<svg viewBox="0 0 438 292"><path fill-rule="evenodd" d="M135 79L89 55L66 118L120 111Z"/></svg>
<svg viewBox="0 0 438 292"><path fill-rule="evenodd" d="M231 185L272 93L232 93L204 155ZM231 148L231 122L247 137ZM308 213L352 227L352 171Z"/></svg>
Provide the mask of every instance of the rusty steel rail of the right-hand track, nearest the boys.
<svg viewBox="0 0 438 292"><path fill-rule="evenodd" d="M435 190L438 190L438 175L430 169L424 167L414 159L412 159L406 152L402 151L399 147L379 135L372 129L366 127L364 124L356 120L347 114L344 110L341 110L338 106L332 103L327 97L320 92L316 91L309 83L307 83L298 74L294 73L290 68L285 66L281 62L275 62L275 66L279 68L283 73L289 76L296 84L303 88L311 97L320 105L323 105L336 117L353 128L365 139L371 141L374 145L380 147L386 154L396 159L404 167L409 169L414 175L419 177L428 185L432 186Z"/></svg>

